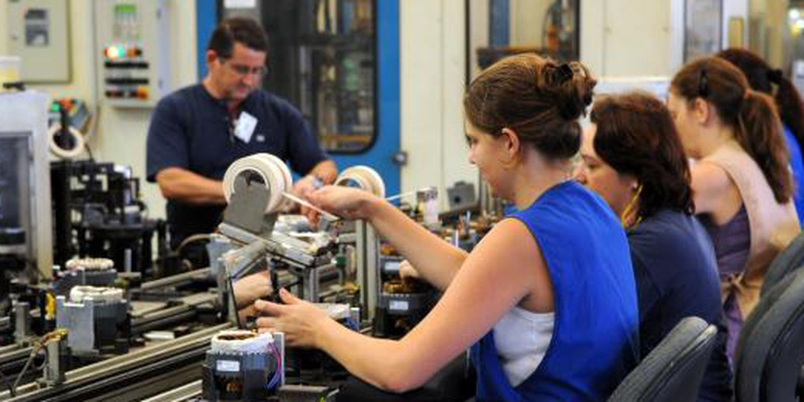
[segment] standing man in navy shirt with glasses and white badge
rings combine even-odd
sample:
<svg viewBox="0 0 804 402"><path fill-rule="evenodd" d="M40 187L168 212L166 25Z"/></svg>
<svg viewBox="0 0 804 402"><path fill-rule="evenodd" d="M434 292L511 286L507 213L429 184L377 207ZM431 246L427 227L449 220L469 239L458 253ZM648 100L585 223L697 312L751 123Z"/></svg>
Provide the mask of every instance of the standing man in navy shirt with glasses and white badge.
<svg viewBox="0 0 804 402"><path fill-rule="evenodd" d="M289 162L305 175L293 186L298 195L338 174L301 113L259 88L267 49L259 23L225 19L207 46L203 82L166 96L154 109L147 177L167 199L172 248L215 230L226 205L222 179L236 159L267 152Z"/></svg>

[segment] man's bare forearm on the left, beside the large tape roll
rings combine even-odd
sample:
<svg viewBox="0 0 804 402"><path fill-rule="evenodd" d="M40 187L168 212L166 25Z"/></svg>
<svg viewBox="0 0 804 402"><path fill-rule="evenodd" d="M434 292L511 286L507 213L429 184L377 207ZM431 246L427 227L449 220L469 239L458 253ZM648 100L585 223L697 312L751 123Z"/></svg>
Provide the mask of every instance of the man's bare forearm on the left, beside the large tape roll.
<svg viewBox="0 0 804 402"><path fill-rule="evenodd" d="M156 175L156 181L166 199L196 205L224 205L224 183L203 177L190 170L170 167Z"/></svg>

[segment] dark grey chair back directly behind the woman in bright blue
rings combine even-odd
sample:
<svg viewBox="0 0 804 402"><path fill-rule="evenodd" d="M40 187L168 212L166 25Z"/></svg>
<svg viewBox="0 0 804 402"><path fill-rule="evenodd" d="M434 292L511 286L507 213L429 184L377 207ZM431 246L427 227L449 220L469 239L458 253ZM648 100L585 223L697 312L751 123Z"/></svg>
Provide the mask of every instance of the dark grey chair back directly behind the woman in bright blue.
<svg viewBox="0 0 804 402"><path fill-rule="evenodd" d="M609 402L695 401L716 334L716 326L701 318L684 318L630 372Z"/></svg>

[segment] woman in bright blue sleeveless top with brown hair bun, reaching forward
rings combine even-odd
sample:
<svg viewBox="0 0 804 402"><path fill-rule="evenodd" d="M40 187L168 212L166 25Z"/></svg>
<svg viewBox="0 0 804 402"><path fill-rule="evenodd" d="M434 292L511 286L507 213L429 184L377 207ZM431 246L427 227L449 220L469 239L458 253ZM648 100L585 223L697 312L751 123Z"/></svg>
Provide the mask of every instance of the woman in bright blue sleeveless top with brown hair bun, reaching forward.
<svg viewBox="0 0 804 402"><path fill-rule="evenodd" d="M464 99L470 162L519 212L466 254L391 204L325 187L310 201L367 219L444 289L399 341L340 326L287 292L258 301L262 330L317 347L353 375L404 392L472 348L478 400L605 400L638 360L638 309L625 232L600 199L570 180L577 119L595 81L580 64L517 55L482 72Z"/></svg>

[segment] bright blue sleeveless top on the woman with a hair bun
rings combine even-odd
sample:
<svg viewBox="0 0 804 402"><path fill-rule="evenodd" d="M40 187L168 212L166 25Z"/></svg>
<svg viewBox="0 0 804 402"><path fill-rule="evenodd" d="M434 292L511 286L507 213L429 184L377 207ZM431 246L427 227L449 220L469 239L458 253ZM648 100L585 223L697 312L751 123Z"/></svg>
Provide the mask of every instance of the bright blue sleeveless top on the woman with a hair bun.
<svg viewBox="0 0 804 402"><path fill-rule="evenodd" d="M556 314L539 367L511 387L490 331L472 347L478 400L605 400L638 363L639 314L626 233L609 206L575 182L510 215L547 261Z"/></svg>

